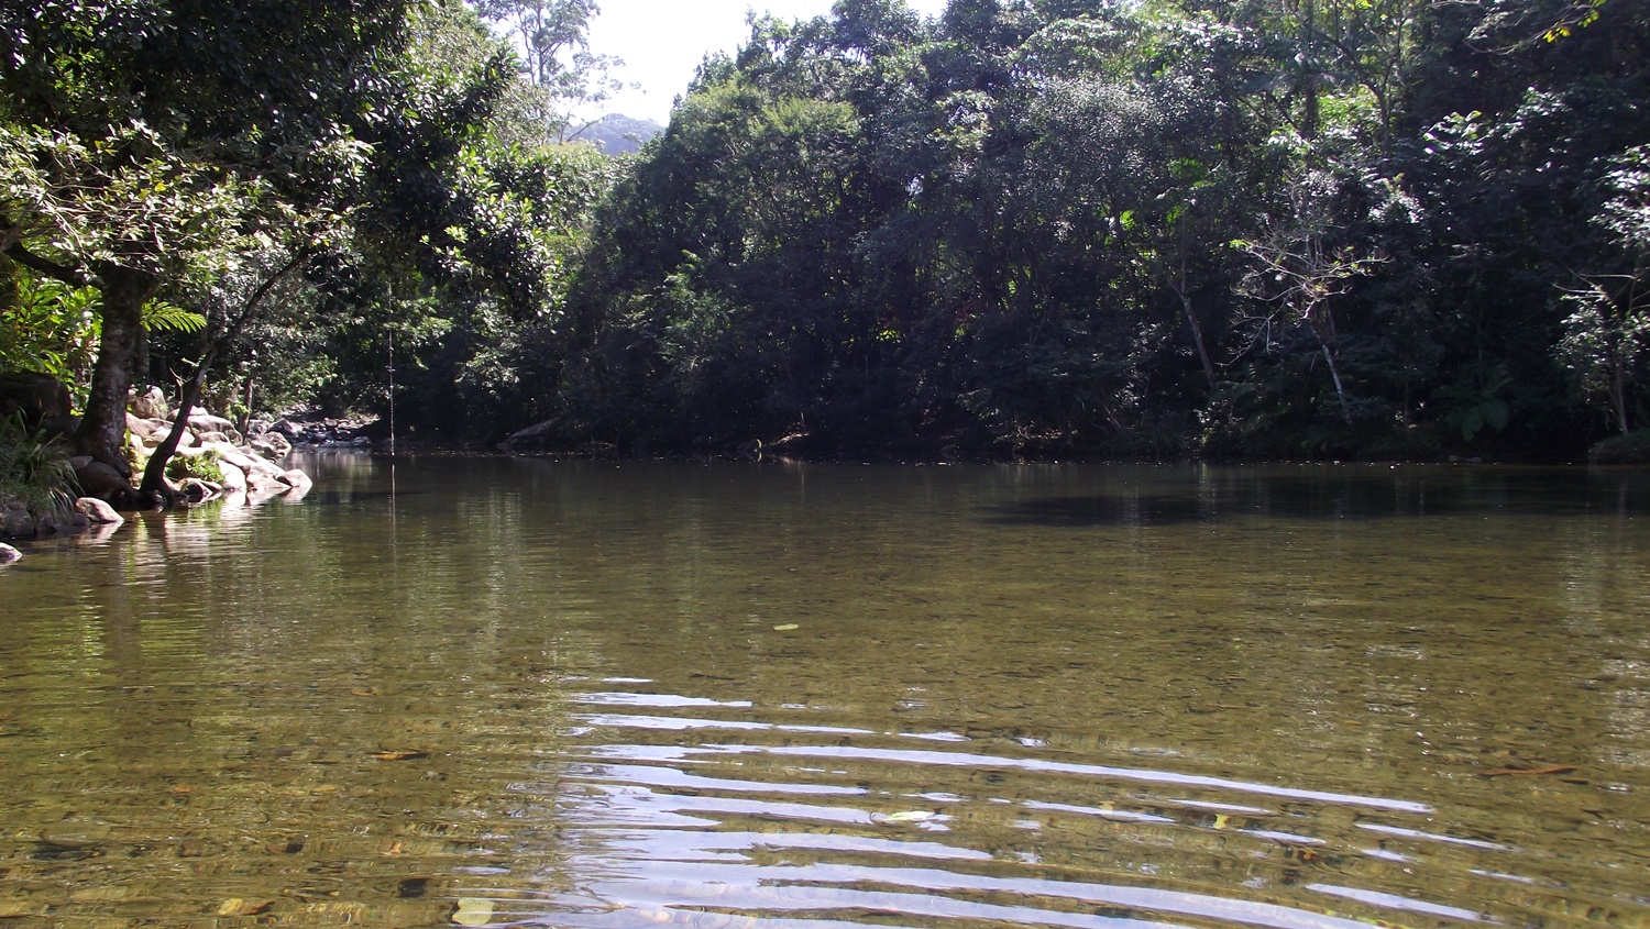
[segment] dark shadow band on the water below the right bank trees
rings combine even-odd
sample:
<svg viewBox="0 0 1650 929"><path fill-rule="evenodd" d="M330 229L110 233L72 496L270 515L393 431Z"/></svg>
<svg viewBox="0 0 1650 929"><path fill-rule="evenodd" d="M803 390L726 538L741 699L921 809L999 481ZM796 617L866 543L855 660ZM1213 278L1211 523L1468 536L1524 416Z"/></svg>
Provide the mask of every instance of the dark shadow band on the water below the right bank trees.
<svg viewBox="0 0 1650 929"><path fill-rule="evenodd" d="M1233 518L1384 520L1459 513L1650 515L1650 475L1584 469L1336 467L1325 474L1259 470L1168 490L1150 483L1091 495L1031 497L982 508L1005 526L1181 526Z"/></svg>

